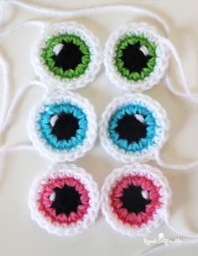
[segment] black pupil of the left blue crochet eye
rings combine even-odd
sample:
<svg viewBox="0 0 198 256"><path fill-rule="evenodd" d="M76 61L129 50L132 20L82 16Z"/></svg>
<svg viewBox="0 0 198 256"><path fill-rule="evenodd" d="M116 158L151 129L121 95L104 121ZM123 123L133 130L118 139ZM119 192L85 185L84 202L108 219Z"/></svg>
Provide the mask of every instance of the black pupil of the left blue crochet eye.
<svg viewBox="0 0 198 256"><path fill-rule="evenodd" d="M51 134L55 135L58 141L70 140L76 136L76 131L79 129L78 119L72 114L61 113L52 127Z"/></svg>

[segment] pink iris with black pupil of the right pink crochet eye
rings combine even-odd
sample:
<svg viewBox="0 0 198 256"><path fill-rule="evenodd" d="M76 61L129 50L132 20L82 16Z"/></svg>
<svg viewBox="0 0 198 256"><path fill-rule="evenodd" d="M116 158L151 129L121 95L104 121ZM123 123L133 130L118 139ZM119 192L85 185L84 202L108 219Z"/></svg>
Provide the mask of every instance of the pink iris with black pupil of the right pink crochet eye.
<svg viewBox="0 0 198 256"><path fill-rule="evenodd" d="M124 224L141 227L154 220L154 213L161 206L159 189L146 176L124 176L112 188L113 212Z"/></svg>

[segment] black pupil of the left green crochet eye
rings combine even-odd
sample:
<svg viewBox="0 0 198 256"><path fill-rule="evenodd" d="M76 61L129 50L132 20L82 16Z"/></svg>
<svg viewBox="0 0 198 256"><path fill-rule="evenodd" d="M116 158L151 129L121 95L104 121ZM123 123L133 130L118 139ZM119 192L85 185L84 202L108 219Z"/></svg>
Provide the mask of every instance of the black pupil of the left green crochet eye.
<svg viewBox="0 0 198 256"><path fill-rule="evenodd" d="M68 69L76 69L78 64L81 63L81 58L83 53L78 45L73 42L66 43L62 42L64 45L60 50L58 55L54 56L55 67L61 67L64 71Z"/></svg>

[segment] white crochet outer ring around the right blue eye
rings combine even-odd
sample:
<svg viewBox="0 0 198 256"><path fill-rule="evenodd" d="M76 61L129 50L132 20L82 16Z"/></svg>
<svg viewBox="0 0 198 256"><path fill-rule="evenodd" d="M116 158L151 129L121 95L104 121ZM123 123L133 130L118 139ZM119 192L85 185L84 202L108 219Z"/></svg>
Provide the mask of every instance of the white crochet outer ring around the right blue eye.
<svg viewBox="0 0 198 256"><path fill-rule="evenodd" d="M143 149L141 152L126 152L113 143L108 133L108 124L112 115L117 109L122 107L122 105L129 103L141 103L145 106L145 108L153 113L156 124L160 127L157 131L158 136L154 137L155 144ZM109 155L122 163L133 163L135 161L143 163L153 159L154 153L164 146L164 143L169 137L170 123L166 111L157 101L141 93L126 93L121 96L117 96L110 104L107 105L107 108L102 114L102 120L99 126L102 147L104 147Z"/></svg>

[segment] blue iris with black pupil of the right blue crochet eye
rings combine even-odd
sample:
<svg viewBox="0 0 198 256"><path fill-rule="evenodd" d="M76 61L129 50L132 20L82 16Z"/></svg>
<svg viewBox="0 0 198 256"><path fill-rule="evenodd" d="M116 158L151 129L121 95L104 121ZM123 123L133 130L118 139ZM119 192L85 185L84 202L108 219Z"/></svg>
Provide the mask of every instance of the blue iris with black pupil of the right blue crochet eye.
<svg viewBox="0 0 198 256"><path fill-rule="evenodd" d="M141 152L153 146L157 128L154 115L141 104L123 105L108 124L111 140L126 152Z"/></svg>

